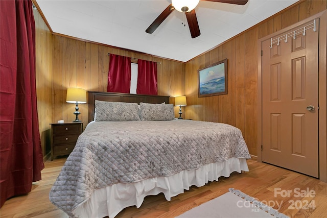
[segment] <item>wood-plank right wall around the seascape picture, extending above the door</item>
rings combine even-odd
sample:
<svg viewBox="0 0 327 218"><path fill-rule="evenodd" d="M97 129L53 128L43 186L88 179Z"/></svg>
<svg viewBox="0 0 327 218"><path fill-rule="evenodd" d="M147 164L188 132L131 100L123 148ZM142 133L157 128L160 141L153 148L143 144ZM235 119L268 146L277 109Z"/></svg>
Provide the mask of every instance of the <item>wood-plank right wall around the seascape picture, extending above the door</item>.
<svg viewBox="0 0 327 218"><path fill-rule="evenodd" d="M258 155L258 40L327 9L327 1L300 1L185 66L186 118L238 127ZM228 59L228 94L198 98L198 69Z"/></svg>

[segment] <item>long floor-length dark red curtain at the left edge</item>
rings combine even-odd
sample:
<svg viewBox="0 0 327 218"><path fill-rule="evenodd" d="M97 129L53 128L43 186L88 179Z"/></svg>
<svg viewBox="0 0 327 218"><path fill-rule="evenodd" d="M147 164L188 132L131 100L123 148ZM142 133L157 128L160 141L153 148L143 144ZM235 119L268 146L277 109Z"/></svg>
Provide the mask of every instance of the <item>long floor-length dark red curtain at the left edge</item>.
<svg viewBox="0 0 327 218"><path fill-rule="evenodd" d="M0 207L31 191L44 168L35 82L35 23L30 0L0 1Z"/></svg>

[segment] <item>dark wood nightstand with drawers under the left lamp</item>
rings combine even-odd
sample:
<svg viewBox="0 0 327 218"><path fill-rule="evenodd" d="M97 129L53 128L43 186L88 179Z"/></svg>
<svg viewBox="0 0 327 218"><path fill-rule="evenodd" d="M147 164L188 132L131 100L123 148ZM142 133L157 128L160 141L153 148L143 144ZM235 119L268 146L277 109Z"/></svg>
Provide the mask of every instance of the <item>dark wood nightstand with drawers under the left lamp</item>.
<svg viewBox="0 0 327 218"><path fill-rule="evenodd" d="M51 161L54 156L70 154L78 136L83 132L83 123L54 123L51 125Z"/></svg>

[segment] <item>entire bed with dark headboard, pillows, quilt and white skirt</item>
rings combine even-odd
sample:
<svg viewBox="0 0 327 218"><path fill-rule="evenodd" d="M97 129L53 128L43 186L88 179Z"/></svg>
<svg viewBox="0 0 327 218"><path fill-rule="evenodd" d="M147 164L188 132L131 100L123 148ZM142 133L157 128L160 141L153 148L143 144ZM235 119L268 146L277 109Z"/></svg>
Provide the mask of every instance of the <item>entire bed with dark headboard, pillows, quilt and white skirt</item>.
<svg viewBox="0 0 327 218"><path fill-rule="evenodd" d="M227 124L174 118L169 96L88 92L89 124L50 191L71 217L113 218L162 192L248 171L248 148Z"/></svg>

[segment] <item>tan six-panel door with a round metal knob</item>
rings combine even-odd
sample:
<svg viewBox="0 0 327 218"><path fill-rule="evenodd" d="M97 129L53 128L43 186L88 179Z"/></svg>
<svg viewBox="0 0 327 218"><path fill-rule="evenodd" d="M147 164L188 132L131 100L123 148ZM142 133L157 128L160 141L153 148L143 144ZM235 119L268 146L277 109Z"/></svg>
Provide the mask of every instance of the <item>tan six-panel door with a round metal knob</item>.
<svg viewBox="0 0 327 218"><path fill-rule="evenodd" d="M318 28L298 31L310 23L274 37L295 39L262 42L262 161L319 177Z"/></svg>

